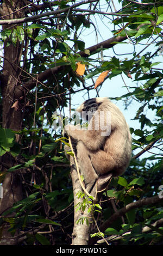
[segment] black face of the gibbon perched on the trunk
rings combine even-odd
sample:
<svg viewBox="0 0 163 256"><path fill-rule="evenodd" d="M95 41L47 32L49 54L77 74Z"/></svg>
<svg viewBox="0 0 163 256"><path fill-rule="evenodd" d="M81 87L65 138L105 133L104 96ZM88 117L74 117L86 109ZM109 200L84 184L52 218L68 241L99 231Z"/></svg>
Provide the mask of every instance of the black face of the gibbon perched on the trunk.
<svg viewBox="0 0 163 256"><path fill-rule="evenodd" d="M99 106L99 104L96 103L96 98L86 100L84 102L84 108L82 109L82 111L85 112L84 119L86 119L87 121L90 121L93 114L95 114L95 112L97 111L98 106Z"/></svg>

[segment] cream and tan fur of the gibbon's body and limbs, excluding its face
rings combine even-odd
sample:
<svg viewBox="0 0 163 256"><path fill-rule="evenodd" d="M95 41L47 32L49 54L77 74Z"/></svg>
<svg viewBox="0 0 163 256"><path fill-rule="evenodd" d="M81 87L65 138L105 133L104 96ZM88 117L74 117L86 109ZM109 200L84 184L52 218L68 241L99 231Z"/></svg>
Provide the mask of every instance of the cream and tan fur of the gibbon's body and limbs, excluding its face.
<svg viewBox="0 0 163 256"><path fill-rule="evenodd" d="M97 112L107 111L111 114L111 133L101 136L101 130L82 130L79 126L66 126L66 133L77 141L77 160L80 173L84 176L88 191L99 175L111 172L114 176L121 175L128 167L131 157L131 135L129 126L120 111L108 97L96 97L96 103L101 103ZM77 108L82 112L85 102ZM95 125L93 115L90 123Z"/></svg>

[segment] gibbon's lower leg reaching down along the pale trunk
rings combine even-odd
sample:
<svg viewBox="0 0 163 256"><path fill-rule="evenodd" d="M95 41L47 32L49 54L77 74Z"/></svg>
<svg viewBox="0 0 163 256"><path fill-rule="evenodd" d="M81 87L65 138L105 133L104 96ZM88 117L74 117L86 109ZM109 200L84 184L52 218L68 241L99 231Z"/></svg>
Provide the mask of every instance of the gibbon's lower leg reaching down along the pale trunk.
<svg viewBox="0 0 163 256"><path fill-rule="evenodd" d="M77 144L77 161L79 165L80 174L84 176L84 183L86 190L91 191L91 188L98 179L98 175L92 166L89 150L85 147L82 141Z"/></svg>

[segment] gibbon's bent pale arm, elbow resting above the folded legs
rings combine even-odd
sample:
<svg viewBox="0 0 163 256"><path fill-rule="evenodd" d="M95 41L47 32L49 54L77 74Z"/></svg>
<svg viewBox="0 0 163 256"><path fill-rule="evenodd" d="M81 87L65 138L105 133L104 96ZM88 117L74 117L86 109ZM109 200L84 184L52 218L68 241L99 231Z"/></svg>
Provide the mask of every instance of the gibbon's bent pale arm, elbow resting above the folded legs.
<svg viewBox="0 0 163 256"><path fill-rule="evenodd" d="M101 136L100 130L83 130L79 126L74 125L66 125L65 133L77 141L82 141L86 148L92 151L100 149L106 138Z"/></svg>

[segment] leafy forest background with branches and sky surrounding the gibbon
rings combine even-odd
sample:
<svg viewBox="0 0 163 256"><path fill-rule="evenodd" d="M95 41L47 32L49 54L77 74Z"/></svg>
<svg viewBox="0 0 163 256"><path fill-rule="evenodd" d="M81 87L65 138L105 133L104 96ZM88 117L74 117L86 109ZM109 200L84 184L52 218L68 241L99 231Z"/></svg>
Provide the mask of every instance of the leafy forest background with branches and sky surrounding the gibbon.
<svg viewBox="0 0 163 256"><path fill-rule="evenodd" d="M130 166L101 203L85 198L78 210L94 211L89 245L162 245L163 2L5 0L0 11L0 243L71 244L70 164L54 112L71 121L74 99L109 96L117 78L111 100L135 106L140 124Z"/></svg>

